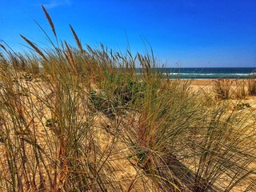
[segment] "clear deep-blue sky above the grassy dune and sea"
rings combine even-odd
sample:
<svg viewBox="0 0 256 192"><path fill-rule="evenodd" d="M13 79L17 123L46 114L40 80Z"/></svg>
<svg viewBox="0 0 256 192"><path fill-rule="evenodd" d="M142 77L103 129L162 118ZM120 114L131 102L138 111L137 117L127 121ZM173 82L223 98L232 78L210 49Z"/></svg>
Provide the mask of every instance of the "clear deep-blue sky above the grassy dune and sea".
<svg viewBox="0 0 256 192"><path fill-rule="evenodd" d="M14 50L19 37L46 42L46 7L58 38L146 52L143 39L166 66L256 66L256 0L1 0L0 40Z"/></svg>

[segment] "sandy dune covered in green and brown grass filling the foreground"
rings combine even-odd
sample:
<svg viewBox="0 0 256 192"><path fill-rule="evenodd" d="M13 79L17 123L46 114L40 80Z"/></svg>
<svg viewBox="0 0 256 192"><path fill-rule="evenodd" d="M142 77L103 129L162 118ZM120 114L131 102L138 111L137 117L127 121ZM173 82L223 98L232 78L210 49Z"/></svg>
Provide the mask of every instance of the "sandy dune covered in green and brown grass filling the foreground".
<svg viewBox="0 0 256 192"><path fill-rule="evenodd" d="M51 50L1 45L1 190L254 190L255 114L229 109L228 82L210 102L153 52L83 48L72 26L78 48L62 42L42 9Z"/></svg>

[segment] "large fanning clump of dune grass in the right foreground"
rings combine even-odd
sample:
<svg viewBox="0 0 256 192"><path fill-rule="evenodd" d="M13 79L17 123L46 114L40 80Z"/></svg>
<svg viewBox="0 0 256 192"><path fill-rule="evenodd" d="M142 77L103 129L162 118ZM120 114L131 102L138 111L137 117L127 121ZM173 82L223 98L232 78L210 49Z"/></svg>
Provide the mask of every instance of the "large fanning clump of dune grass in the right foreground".
<svg viewBox="0 0 256 192"><path fill-rule="evenodd" d="M157 98L149 100L146 111L150 114L142 109L136 134L139 166L154 175L163 190L232 190L247 176L253 176L249 165L254 162L254 150L250 150L251 157L234 153L250 149L251 145L246 147L242 142L242 132L251 126L246 125L248 116L228 114L227 103L206 110L202 99L193 93L184 93L178 101L175 94L180 88L186 89L174 88L177 90L161 96L158 93ZM253 135L247 136L246 142L251 142ZM222 185L224 180L226 186Z"/></svg>

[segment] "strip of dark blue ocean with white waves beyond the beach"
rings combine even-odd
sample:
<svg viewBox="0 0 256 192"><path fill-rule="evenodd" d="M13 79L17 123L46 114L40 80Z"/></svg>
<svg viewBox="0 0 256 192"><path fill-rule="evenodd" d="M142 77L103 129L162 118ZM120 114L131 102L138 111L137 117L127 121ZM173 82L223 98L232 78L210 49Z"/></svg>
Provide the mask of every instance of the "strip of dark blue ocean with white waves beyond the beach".
<svg viewBox="0 0 256 192"><path fill-rule="evenodd" d="M169 74L170 78L255 78L256 67L181 67L166 68L165 73Z"/></svg>

